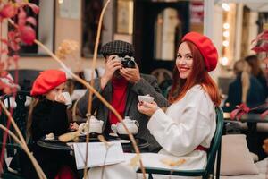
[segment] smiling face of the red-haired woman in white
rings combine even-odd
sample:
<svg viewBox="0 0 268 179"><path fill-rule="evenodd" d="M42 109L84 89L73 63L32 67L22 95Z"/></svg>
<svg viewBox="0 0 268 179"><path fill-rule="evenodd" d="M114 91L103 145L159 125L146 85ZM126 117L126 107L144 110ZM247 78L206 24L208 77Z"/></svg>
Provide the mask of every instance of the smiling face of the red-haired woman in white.
<svg viewBox="0 0 268 179"><path fill-rule="evenodd" d="M187 79L189 74L192 72L193 55L186 42L182 42L180 44L176 58L176 66L181 79Z"/></svg>

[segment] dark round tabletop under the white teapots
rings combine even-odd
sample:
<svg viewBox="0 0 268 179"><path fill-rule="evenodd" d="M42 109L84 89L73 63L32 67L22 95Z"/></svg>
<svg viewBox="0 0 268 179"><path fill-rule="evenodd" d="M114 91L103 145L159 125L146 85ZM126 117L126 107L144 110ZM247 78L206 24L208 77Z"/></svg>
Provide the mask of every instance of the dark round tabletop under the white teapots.
<svg viewBox="0 0 268 179"><path fill-rule="evenodd" d="M120 139L106 139L107 141L121 141L122 149L124 152L134 152L133 146L130 141L128 140L120 140ZM86 138L80 137L79 142L85 142ZM97 138L90 138L89 142L96 142L98 141ZM141 151L148 151L149 143L144 139L136 138L135 141L137 142L138 149ZM38 146L46 149L59 149L59 150L72 150L71 146L67 143L59 141L57 137L54 140L46 140L45 137L41 138L38 141Z"/></svg>

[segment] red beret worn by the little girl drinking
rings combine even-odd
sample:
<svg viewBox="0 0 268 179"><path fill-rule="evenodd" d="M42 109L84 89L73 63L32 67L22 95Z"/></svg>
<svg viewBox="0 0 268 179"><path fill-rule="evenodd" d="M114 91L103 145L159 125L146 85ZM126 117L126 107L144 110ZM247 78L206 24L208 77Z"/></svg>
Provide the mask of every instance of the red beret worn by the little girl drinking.
<svg viewBox="0 0 268 179"><path fill-rule="evenodd" d="M49 90L53 90L66 81L66 74L60 70L46 70L40 72L38 78L34 81L31 96L46 94Z"/></svg>

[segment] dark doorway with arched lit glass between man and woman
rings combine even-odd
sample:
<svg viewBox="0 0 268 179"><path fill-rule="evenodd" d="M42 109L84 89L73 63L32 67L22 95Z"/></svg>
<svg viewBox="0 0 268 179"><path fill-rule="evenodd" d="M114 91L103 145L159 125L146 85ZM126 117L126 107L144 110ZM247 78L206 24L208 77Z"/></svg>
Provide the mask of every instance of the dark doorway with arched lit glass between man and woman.
<svg viewBox="0 0 268 179"><path fill-rule="evenodd" d="M166 10L169 10L168 16ZM140 72L151 73L157 68L164 68L172 72L180 38L189 30L189 2L157 3L137 0L134 4L134 14L133 43ZM180 21L178 27L172 25L174 17ZM166 27L161 24L163 19L168 19L169 24L174 28L172 31L165 29L165 31L173 33L172 44L164 45L165 42L161 38L161 34L167 36L163 31ZM157 29L157 23L162 25L162 30ZM172 54L165 51L167 49L170 52L169 47L172 47ZM159 49L163 52L159 52Z"/></svg>

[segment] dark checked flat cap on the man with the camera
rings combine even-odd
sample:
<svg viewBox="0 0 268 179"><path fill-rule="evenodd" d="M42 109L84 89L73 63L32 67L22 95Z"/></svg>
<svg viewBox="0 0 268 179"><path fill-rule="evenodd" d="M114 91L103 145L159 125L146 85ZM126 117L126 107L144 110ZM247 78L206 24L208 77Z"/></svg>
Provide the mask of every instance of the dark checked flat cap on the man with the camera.
<svg viewBox="0 0 268 179"><path fill-rule="evenodd" d="M112 42L106 43L100 50L100 53L104 56L106 55L119 55L121 57L125 55L133 56L134 55L134 47L132 44L121 41L114 40Z"/></svg>

